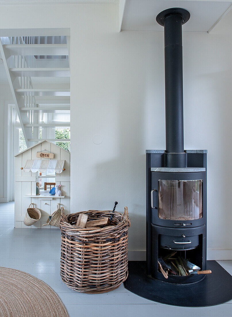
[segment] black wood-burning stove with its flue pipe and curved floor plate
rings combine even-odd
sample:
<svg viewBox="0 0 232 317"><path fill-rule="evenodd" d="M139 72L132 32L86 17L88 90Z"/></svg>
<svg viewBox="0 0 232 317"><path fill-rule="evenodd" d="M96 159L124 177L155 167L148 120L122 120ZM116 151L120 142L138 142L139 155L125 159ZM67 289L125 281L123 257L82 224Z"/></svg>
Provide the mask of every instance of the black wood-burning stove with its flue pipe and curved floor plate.
<svg viewBox="0 0 232 317"><path fill-rule="evenodd" d="M207 151L184 150L182 24L189 18L180 8L156 17L164 26L166 150L146 151L147 259L129 261L124 285L153 301L201 307L232 298L232 277L216 261L207 261L209 275L166 279L158 268L159 258L176 251L179 261L206 269Z"/></svg>

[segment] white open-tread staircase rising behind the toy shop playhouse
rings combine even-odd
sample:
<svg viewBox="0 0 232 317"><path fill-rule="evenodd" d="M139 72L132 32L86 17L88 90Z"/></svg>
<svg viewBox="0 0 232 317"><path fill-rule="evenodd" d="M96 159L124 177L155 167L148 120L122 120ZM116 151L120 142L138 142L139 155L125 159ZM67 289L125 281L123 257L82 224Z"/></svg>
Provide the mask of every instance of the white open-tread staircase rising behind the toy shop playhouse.
<svg viewBox="0 0 232 317"><path fill-rule="evenodd" d="M40 129L70 128L67 37L1 37L0 52L27 147L41 140ZM49 81L43 81L45 77L49 77ZM65 78L65 84L58 77ZM68 114L69 121L54 121L55 114L60 114L61 118L67 118Z"/></svg>

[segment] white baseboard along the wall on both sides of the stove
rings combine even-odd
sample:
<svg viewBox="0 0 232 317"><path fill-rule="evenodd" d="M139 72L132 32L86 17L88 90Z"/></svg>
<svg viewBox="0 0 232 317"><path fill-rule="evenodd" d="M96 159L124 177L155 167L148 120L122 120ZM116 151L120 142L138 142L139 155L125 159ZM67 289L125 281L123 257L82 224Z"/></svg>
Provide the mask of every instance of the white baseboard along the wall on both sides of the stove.
<svg viewBox="0 0 232 317"><path fill-rule="evenodd" d="M129 261L146 261L146 250L128 250ZM232 249L207 249L207 260L232 260Z"/></svg>

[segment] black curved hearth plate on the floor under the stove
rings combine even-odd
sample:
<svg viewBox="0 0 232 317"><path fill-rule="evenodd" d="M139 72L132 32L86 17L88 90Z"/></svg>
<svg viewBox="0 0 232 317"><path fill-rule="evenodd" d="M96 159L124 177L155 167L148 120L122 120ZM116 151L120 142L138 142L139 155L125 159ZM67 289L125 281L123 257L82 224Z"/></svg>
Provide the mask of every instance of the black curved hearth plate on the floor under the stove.
<svg viewBox="0 0 232 317"><path fill-rule="evenodd" d="M216 261L207 261L211 274L196 283L172 284L145 274L145 261L128 262L126 289L141 297L163 304L184 307L205 307L232 299L232 276Z"/></svg>

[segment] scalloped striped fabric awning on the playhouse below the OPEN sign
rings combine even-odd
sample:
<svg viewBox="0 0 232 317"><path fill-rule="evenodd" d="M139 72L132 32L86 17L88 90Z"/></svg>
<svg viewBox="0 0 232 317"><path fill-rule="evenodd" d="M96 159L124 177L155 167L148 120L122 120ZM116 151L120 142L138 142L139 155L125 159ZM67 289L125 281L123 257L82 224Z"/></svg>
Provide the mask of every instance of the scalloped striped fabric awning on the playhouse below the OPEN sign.
<svg viewBox="0 0 232 317"><path fill-rule="evenodd" d="M32 171L33 173L62 173L65 160L58 159L28 159L26 165L23 167L24 172Z"/></svg>

